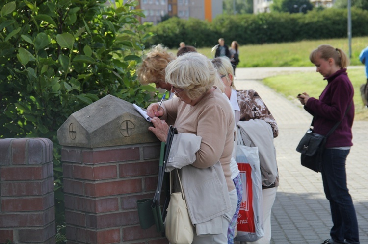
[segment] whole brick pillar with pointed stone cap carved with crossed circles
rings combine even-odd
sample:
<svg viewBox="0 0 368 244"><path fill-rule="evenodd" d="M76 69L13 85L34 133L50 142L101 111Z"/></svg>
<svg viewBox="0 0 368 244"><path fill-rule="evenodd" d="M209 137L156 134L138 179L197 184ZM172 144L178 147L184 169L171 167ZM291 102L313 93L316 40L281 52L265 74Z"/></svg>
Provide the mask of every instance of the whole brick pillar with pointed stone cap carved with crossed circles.
<svg viewBox="0 0 368 244"><path fill-rule="evenodd" d="M62 145L68 244L167 244L140 228L136 200L152 198L160 142L132 104L113 96L73 113Z"/></svg>

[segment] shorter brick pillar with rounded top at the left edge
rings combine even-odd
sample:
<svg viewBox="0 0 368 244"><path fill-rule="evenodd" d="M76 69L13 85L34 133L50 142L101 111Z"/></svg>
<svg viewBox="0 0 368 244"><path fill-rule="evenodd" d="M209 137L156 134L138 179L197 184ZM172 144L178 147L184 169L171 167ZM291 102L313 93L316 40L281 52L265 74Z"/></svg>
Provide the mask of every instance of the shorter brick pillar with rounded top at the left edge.
<svg viewBox="0 0 368 244"><path fill-rule="evenodd" d="M53 143L0 139L0 243L55 243Z"/></svg>

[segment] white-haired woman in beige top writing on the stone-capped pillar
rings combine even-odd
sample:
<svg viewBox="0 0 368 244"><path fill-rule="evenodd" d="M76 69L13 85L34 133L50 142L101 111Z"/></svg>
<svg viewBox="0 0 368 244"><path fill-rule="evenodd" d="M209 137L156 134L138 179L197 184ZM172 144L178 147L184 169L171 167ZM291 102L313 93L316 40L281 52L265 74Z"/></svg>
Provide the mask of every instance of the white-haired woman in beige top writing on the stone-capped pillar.
<svg viewBox="0 0 368 244"><path fill-rule="evenodd" d="M187 53L171 61L166 83L177 97L165 101L159 110L157 103L147 108L153 123L149 130L165 141L168 124L178 129L167 166L181 168L189 216L195 225L193 243L227 243L228 225L237 205L229 167L234 147L231 106L214 86L222 83L202 54ZM197 142L194 153L184 152L188 144ZM178 145L181 150L175 150ZM185 153L192 160L182 160Z"/></svg>

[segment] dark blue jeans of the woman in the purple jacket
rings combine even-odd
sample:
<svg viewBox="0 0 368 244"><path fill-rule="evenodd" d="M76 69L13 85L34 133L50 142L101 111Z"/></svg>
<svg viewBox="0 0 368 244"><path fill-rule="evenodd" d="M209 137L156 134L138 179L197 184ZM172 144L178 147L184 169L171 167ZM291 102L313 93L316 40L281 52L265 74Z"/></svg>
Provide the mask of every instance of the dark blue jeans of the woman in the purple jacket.
<svg viewBox="0 0 368 244"><path fill-rule="evenodd" d="M322 180L330 201L333 227L331 238L338 242L359 243L358 221L346 183L346 157L350 150L326 148L323 152Z"/></svg>

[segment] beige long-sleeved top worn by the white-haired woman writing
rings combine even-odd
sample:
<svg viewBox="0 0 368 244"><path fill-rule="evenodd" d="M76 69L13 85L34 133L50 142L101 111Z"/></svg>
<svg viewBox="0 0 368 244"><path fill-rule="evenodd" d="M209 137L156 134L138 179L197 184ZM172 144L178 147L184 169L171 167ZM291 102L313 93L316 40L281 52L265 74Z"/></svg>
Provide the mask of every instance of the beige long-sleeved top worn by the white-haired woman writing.
<svg viewBox="0 0 368 244"><path fill-rule="evenodd" d="M228 191L235 189L231 179L230 160L234 148L234 115L229 101L219 89L205 94L194 106L179 98L162 103L165 113L161 119L178 129L202 138L193 166L206 169L221 162Z"/></svg>

